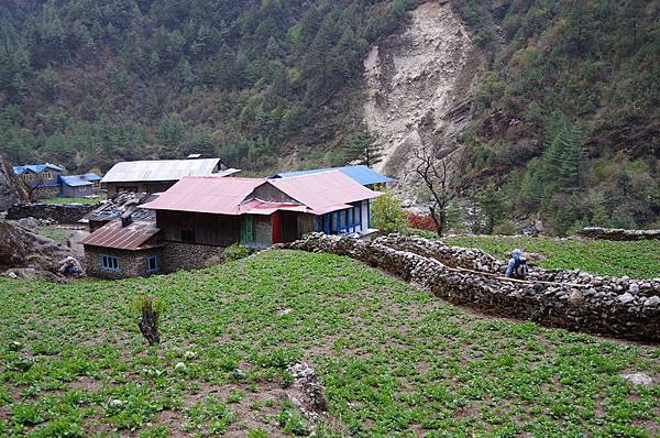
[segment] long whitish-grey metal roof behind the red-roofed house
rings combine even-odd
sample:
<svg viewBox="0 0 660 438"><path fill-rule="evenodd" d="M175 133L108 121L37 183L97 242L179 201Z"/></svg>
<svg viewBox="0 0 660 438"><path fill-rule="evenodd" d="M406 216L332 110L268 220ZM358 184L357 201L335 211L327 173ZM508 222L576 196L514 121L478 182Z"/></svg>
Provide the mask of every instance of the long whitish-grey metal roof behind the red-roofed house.
<svg viewBox="0 0 660 438"><path fill-rule="evenodd" d="M213 175L219 163L220 158L121 162L108 171L101 183L177 180L184 176Z"/></svg>

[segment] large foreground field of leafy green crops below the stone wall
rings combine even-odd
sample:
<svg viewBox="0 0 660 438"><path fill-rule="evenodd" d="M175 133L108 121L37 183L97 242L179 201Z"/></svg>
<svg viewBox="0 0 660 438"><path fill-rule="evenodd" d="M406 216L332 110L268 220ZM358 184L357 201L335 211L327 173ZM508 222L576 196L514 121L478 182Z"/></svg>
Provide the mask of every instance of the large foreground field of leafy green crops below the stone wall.
<svg viewBox="0 0 660 438"><path fill-rule="evenodd" d="M160 349L130 303L167 306ZM652 437L660 349L475 316L348 258L266 251L198 272L0 280L0 436ZM283 394L306 361L329 416ZM622 373L644 372L635 387Z"/></svg>

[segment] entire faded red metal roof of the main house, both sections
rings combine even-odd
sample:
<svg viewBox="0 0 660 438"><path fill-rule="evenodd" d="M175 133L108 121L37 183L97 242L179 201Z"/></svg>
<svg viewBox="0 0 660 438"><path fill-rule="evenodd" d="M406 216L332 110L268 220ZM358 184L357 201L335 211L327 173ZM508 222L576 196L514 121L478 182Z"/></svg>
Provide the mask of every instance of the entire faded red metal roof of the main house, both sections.
<svg viewBox="0 0 660 438"><path fill-rule="evenodd" d="M248 199L254 189L271 184L299 204ZM322 215L350 208L349 202L381 196L341 172L327 172L283 179L217 178L190 176L180 179L158 199L142 208L196 211L216 215L270 215L276 210Z"/></svg>

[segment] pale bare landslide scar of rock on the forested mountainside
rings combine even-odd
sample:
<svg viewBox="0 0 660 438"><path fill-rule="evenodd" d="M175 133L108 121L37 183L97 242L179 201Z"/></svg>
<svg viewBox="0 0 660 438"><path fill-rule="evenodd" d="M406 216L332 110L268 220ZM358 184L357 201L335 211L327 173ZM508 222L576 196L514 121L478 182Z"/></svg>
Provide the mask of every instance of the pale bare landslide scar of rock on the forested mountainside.
<svg viewBox="0 0 660 438"><path fill-rule="evenodd" d="M364 117L384 146L378 169L414 185L414 149L452 153L470 122L470 90L482 69L449 2L420 4L405 30L372 46L364 59Z"/></svg>

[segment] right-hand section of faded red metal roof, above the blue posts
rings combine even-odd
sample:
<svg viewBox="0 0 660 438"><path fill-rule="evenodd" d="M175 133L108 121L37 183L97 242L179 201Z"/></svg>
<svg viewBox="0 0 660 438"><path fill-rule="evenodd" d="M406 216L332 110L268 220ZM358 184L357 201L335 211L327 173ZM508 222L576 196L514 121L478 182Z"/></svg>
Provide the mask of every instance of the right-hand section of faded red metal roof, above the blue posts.
<svg viewBox="0 0 660 438"><path fill-rule="evenodd" d="M350 202L373 199L382 195L339 171L268 179L268 183L306 205L317 215L350 208Z"/></svg>

